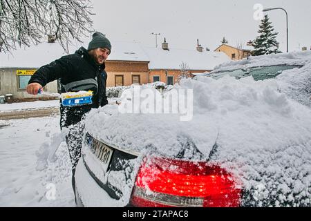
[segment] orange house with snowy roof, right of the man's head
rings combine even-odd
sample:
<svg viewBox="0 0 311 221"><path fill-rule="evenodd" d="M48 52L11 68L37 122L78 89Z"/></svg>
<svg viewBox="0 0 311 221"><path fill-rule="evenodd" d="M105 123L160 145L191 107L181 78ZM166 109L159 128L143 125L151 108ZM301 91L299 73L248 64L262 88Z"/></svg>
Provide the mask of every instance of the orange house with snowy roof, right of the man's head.
<svg viewBox="0 0 311 221"><path fill-rule="evenodd" d="M113 42L113 50L106 61L107 86L129 86L162 81L175 84L181 66L188 67L189 74L210 72L218 64L230 61L223 52L208 52L169 48L164 40L162 48L145 47L138 43Z"/></svg>

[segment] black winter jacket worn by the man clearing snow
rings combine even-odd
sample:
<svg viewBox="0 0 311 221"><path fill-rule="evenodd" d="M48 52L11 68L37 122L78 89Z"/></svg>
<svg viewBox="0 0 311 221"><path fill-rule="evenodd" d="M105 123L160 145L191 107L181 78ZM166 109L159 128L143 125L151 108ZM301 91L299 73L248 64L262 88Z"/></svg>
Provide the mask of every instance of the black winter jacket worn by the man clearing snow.
<svg viewBox="0 0 311 221"><path fill-rule="evenodd" d="M62 85L73 81L84 79L97 79L98 92L93 96L93 104L84 106L64 107L61 105L61 127L77 124L82 116L91 111L91 108L98 108L108 104L106 97L107 73L105 65L98 66L88 51L81 47L72 55L66 55L53 61L46 66L39 68L30 78L28 84L37 82L46 86L51 81L60 79ZM62 93L66 92L62 87Z"/></svg>

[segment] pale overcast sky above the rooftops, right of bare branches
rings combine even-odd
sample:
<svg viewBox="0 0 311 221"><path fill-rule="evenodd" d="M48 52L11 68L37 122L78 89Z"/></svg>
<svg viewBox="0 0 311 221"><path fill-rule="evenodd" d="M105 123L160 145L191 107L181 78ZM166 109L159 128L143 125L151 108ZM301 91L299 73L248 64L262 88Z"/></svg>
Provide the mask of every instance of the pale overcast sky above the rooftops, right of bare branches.
<svg viewBox="0 0 311 221"><path fill-rule="evenodd" d="M226 37L236 46L258 36L260 21L254 19L254 5L281 7L288 11L290 51L311 46L310 0L91 0L95 30L113 41L140 42L158 47L166 37L170 48L193 49L196 39L211 50ZM285 12L268 12L280 50L286 50Z"/></svg>

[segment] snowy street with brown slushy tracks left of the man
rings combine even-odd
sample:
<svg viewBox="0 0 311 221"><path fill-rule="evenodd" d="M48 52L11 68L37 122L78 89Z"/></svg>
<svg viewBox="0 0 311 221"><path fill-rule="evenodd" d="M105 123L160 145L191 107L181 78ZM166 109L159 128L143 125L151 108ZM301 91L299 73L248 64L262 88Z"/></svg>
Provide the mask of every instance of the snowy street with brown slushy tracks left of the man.
<svg viewBox="0 0 311 221"><path fill-rule="evenodd" d="M59 114L59 100L0 104L0 119L45 117Z"/></svg>

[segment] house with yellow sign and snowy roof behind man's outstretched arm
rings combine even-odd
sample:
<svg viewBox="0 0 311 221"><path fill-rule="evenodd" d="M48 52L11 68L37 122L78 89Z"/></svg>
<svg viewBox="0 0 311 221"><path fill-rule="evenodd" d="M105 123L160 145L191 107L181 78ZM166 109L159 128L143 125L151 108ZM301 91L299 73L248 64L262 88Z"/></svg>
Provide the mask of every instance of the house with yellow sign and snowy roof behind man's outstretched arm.
<svg viewBox="0 0 311 221"><path fill-rule="evenodd" d="M13 99L31 101L55 99L46 95L33 96L26 93L26 86L33 73L45 64L66 55L59 44L43 43L29 48L17 48L12 54L0 53L0 95L12 94ZM50 82L44 90L57 93L57 81Z"/></svg>

